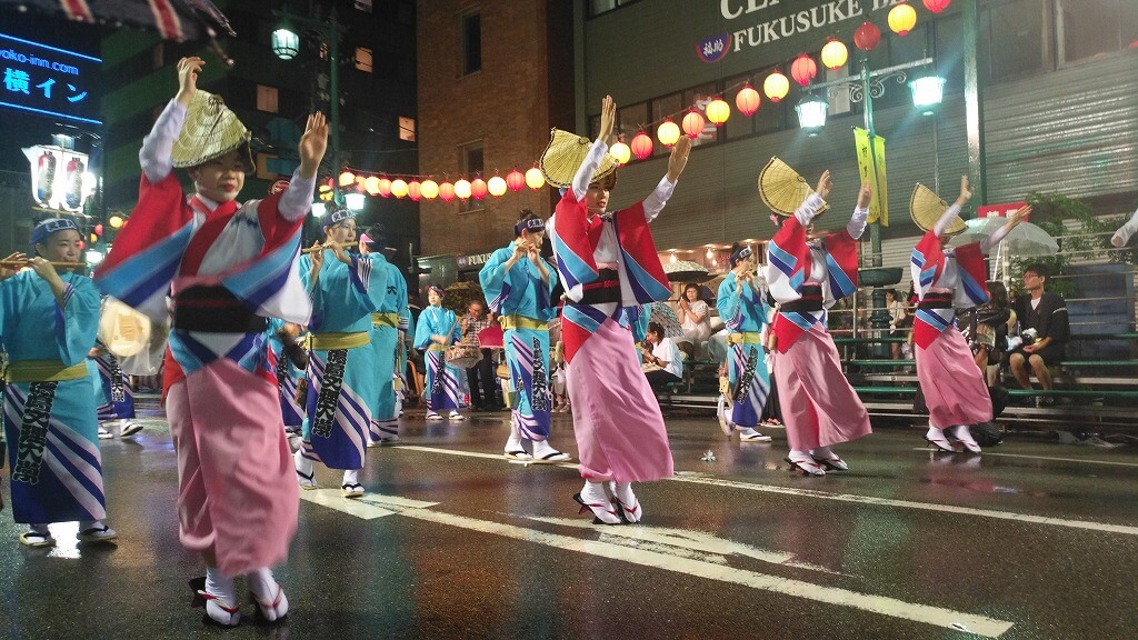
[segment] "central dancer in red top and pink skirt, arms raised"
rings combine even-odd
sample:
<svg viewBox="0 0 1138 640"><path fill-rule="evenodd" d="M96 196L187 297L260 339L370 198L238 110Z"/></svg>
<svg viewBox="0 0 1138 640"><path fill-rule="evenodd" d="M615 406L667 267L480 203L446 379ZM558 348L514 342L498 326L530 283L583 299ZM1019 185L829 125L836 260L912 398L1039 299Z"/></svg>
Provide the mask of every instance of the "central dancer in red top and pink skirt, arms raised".
<svg viewBox="0 0 1138 640"><path fill-rule="evenodd" d="M682 138L655 190L607 213L616 177L597 180L594 174L616 141L616 104L605 96L597 139L547 225L568 298L561 334L585 478L574 499L605 524L638 522L644 514L632 483L673 474L663 417L636 360L626 309L671 295L648 224L663 210L691 150L691 140Z"/></svg>

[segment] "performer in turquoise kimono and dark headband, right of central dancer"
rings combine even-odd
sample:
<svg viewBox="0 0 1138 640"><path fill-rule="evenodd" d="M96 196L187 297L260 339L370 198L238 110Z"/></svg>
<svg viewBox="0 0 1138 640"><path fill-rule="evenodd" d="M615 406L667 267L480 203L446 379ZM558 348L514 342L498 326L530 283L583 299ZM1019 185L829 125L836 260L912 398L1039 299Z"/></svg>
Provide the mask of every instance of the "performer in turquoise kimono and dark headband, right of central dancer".
<svg viewBox="0 0 1138 640"><path fill-rule="evenodd" d="M727 337L728 391L719 400L719 426L728 436L739 432L743 442L770 442L770 436L754 430L770 394L770 376L762 350L762 327L767 307L765 292L758 284L754 252L735 243L731 251L731 272L719 284L716 307L731 330Z"/></svg>

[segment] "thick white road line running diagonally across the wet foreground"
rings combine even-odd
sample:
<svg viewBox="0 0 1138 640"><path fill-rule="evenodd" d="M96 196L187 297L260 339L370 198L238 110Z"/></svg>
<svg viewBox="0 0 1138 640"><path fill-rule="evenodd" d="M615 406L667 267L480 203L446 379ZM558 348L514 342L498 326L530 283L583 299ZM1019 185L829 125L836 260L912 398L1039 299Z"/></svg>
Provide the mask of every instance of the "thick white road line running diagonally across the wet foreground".
<svg viewBox="0 0 1138 640"><path fill-rule="evenodd" d="M338 495L336 495L335 499L319 498L320 495L328 497L330 493L333 492L331 490L304 492L306 500L364 519L378 518L395 512L366 502L347 500ZM954 612L951 609L931 607L927 605L916 605L894 598L887 598L884 596L859 593L848 589L822 586L800 580L791 580L776 575L767 575L758 572L740 569L714 561L692 559L673 553L661 553L659 551L651 551L646 549L633 549L626 545L613 544L611 542L599 540L582 540L569 535L546 533L543 531L503 523L480 520L439 511L430 511L418 507L390 506L394 507L399 515L418 520L454 526L493 535L502 535L513 540L543 544L545 547L561 549L564 551L588 553L591 556L621 560L634 565L653 567L694 577L715 580L742 586L750 586L752 589L770 591L774 593L805 598L816 602L825 602L840 607L851 607L864 612L908 620L922 624L931 624L945 629L959 629L960 625L965 625L972 633L987 638L998 638L1001 633L1012 627L1011 622L1001 620L976 616ZM373 514L368 514L369 510L373 511ZM589 528L595 530L601 534L611 533L611 527L591 526ZM649 532L651 531L649 527L643 526L636 528L646 528ZM642 532L641 535L643 535L645 540L651 538L650 533L644 534ZM668 536L662 535L661 538Z"/></svg>

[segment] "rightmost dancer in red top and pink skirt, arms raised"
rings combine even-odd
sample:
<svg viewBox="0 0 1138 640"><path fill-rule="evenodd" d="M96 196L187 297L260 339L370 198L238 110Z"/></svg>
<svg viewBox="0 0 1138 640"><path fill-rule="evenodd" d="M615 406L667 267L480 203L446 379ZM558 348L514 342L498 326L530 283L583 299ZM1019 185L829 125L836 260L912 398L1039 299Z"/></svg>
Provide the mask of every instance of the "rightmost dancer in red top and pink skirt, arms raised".
<svg viewBox="0 0 1138 640"><path fill-rule="evenodd" d="M951 437L967 451L980 453L968 425L991 420L992 403L972 351L953 322L955 309L988 302L983 254L1015 229L1031 213L1031 207L1024 206L1013 213L1003 227L979 243L946 249L951 237L948 228L971 198L965 175L960 178L960 195L935 224L930 227L929 221L913 216L917 227L925 230L913 249L913 282L921 300L913 322L913 343L916 345L917 380L929 408L925 440L938 451L955 452Z"/></svg>

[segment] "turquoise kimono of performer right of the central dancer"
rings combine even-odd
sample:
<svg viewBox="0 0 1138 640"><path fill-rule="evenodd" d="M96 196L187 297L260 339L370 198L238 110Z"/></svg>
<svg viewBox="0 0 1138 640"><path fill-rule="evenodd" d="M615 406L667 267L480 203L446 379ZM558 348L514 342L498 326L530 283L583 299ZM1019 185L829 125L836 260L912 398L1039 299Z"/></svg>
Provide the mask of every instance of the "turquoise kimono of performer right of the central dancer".
<svg viewBox="0 0 1138 640"><path fill-rule="evenodd" d="M766 322L767 306L762 292L749 284L743 284L742 293L736 294L737 281L734 271L727 273L716 297L719 318L732 331L727 338L727 376L732 388L728 418L739 427L754 427L770 393L770 375L759 337Z"/></svg>

